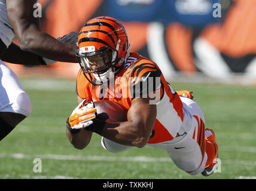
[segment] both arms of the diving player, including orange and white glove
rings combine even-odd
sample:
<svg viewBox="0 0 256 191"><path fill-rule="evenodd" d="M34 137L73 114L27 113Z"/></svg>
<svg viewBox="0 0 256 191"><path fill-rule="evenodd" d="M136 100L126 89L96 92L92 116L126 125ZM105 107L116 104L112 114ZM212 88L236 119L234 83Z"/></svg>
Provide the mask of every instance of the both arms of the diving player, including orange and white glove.
<svg viewBox="0 0 256 191"><path fill-rule="evenodd" d="M127 146L141 148L148 143L157 115L156 105L150 104L148 98L133 99L125 122L101 121L96 118L93 103L82 105L78 105L66 121L66 134L75 148L84 149L93 132Z"/></svg>

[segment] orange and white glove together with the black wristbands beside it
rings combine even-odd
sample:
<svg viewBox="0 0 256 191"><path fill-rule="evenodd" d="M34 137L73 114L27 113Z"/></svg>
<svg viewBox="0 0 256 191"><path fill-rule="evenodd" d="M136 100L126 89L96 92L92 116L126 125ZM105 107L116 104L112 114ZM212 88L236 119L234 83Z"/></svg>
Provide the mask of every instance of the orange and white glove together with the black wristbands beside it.
<svg viewBox="0 0 256 191"><path fill-rule="evenodd" d="M84 106L83 100L66 121L66 127L72 134L79 133L81 128L101 134L106 122L96 119L96 108L92 102Z"/></svg>

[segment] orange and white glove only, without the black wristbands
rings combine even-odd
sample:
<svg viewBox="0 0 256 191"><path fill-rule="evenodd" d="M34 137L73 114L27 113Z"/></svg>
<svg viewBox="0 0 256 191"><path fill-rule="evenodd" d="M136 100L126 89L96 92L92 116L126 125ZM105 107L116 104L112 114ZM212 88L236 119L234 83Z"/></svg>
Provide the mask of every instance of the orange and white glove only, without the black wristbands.
<svg viewBox="0 0 256 191"><path fill-rule="evenodd" d="M69 116L68 122L72 129L81 129L93 124L92 119L96 118L96 108L92 102L84 106L83 100Z"/></svg>

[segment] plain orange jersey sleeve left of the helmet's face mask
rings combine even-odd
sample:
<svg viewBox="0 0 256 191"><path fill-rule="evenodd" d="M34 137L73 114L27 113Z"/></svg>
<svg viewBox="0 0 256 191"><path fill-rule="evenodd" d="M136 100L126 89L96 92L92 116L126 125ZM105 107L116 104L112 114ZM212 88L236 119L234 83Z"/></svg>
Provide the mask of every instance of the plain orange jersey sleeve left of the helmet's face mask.
<svg viewBox="0 0 256 191"><path fill-rule="evenodd" d="M92 101L92 94L90 91L90 84L84 76L82 70L80 69L77 75L77 85L75 88L77 96L85 99L87 101Z"/></svg>

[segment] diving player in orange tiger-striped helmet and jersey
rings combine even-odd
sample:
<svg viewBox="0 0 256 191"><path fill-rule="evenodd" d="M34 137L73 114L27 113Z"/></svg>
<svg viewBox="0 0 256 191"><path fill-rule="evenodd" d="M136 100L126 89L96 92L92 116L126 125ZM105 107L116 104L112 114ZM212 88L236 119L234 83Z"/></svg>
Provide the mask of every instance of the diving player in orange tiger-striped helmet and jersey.
<svg viewBox="0 0 256 191"><path fill-rule="evenodd" d="M102 136L109 152L146 144L164 149L178 168L191 175L210 175L217 165L214 131L191 92L174 91L159 66L137 53L123 25L111 17L88 21L78 36L78 106L66 121L66 134L77 149ZM128 109L127 121L97 119L93 101L111 100ZM87 102L86 102L87 101Z"/></svg>

